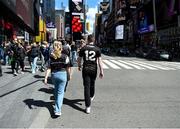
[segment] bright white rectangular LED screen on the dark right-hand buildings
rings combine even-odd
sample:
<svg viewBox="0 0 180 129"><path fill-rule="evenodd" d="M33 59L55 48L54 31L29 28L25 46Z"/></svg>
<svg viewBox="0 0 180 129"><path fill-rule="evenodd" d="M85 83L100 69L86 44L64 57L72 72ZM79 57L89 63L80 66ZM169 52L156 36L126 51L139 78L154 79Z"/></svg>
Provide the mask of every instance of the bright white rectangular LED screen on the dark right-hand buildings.
<svg viewBox="0 0 180 129"><path fill-rule="evenodd" d="M124 39L124 25L116 26L115 39Z"/></svg>

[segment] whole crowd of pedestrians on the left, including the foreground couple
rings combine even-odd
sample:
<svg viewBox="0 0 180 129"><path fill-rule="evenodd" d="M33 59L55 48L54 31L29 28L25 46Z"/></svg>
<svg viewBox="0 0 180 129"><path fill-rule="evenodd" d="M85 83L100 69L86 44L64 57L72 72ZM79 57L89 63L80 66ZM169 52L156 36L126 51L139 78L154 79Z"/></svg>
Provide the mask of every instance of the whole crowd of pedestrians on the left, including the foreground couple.
<svg viewBox="0 0 180 129"><path fill-rule="evenodd" d="M27 58L26 58L27 57ZM101 62L101 51L94 45L92 35L88 36L88 42L81 40L80 44L70 42L63 38L55 40L53 43L43 41L41 43L26 43L22 40L13 40L1 43L0 47L0 76L3 76L1 65L9 65L12 74L24 74L25 59L28 59L31 73L35 74L40 70L45 72L44 83L48 83L48 76L54 85L54 115L61 115L64 93L68 81L72 78L71 67L78 66L81 71L84 85L85 111L90 113L91 101L95 94L95 80L97 76L97 64L99 64L102 78L103 69ZM40 64L37 63L40 60ZM81 62L83 60L83 63ZM98 62L98 63L97 63Z"/></svg>

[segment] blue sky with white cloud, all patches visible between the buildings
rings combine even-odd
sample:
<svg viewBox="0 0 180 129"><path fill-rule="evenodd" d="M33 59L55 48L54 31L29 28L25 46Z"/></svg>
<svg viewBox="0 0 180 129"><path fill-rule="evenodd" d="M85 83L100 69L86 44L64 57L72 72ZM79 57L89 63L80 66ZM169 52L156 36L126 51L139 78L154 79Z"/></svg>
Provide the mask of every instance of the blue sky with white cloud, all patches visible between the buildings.
<svg viewBox="0 0 180 129"><path fill-rule="evenodd" d="M61 8L61 3L63 2L63 5L66 8L66 11L68 11L68 1L69 0L55 0L56 1L56 9L60 9ZM98 11L98 3L100 3L102 0L85 0L89 10L87 12L87 22L90 22L90 32L93 32L93 24L95 22L95 14Z"/></svg>

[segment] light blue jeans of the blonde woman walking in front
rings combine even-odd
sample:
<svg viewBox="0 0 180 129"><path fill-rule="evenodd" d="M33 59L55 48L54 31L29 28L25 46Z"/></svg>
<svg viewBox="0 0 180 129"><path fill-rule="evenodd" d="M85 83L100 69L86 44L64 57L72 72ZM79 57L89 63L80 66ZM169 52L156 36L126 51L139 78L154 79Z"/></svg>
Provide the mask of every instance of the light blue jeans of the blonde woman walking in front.
<svg viewBox="0 0 180 129"><path fill-rule="evenodd" d="M54 97L55 97L55 113L61 112L61 107L64 98L64 88L67 82L67 72L59 71L51 74L52 82L55 86Z"/></svg>

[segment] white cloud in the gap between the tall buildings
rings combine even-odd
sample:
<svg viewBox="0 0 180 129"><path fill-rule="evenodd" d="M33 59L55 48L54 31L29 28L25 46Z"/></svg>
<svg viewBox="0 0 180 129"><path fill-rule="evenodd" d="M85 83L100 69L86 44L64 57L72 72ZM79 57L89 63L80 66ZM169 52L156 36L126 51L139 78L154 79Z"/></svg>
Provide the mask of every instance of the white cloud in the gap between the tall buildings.
<svg viewBox="0 0 180 129"><path fill-rule="evenodd" d="M98 7L94 7L94 8L89 8L88 12L86 13L87 15L87 22L90 23L90 33L93 32L93 28L94 28L94 23L95 23L95 14L98 12Z"/></svg>

